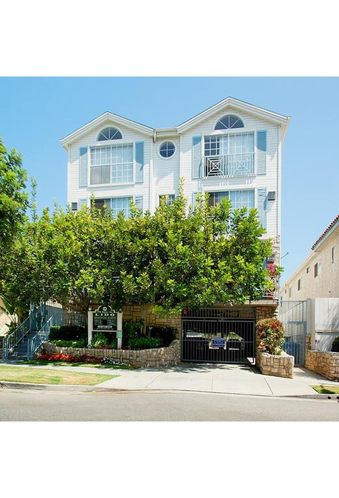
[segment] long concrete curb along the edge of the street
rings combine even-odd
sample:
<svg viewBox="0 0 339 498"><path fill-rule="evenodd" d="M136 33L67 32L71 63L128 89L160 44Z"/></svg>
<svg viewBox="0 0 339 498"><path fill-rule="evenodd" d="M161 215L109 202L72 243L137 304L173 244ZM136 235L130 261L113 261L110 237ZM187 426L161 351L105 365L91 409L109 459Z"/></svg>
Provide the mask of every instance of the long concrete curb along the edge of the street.
<svg viewBox="0 0 339 498"><path fill-rule="evenodd" d="M339 402L339 395L335 394L251 394L251 393L226 393L225 391L197 391L191 389L119 389L110 387L96 386L77 386L77 385L51 385L51 384L24 384L24 382L0 382L0 389L24 389L27 391L73 391L73 392L91 392L91 393L198 393L198 394L218 394L245 396L251 398L304 398L311 400L334 400Z"/></svg>

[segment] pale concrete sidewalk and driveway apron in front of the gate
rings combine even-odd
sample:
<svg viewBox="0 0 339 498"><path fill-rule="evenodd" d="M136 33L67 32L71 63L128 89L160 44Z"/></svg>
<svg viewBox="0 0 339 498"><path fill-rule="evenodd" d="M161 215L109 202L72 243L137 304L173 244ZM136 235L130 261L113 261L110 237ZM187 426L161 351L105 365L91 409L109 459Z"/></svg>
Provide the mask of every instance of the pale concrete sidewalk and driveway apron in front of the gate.
<svg viewBox="0 0 339 498"><path fill-rule="evenodd" d="M85 366L22 366L22 368L62 368L87 373L114 373L119 375L112 380L97 384L99 389L121 389L127 391L200 391L207 393L230 393L242 395L295 396L316 395L311 385L335 385L306 368L295 368L294 378L285 379L262 375L254 366L180 364L166 369L119 370L117 368L88 368ZM32 384L31 384L32 385Z"/></svg>

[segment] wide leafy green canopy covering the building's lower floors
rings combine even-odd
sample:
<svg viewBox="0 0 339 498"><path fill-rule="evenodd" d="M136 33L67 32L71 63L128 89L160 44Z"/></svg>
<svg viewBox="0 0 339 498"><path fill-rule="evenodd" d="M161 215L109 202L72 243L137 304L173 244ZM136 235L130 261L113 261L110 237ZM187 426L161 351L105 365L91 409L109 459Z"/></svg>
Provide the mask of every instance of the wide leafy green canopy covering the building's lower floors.
<svg viewBox="0 0 339 498"><path fill-rule="evenodd" d="M7 290L16 288L25 302L54 299L84 314L105 299L116 309L138 303L146 319L155 306L170 314L244 303L268 288L263 259L271 242L261 238L256 210L232 211L226 199L210 207L202 196L187 206L181 185L173 206L162 202L151 215L132 203L131 211L114 219L93 202L76 213L45 210L26 224L7 258Z"/></svg>

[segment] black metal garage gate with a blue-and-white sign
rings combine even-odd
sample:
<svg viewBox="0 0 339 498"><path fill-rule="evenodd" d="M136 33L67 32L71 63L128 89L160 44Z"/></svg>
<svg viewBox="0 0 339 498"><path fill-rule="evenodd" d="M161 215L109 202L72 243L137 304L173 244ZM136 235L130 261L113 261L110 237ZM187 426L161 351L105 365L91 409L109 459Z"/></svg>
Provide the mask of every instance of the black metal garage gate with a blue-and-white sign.
<svg viewBox="0 0 339 498"><path fill-rule="evenodd" d="M182 362L254 363L255 310L203 308L182 312Z"/></svg>

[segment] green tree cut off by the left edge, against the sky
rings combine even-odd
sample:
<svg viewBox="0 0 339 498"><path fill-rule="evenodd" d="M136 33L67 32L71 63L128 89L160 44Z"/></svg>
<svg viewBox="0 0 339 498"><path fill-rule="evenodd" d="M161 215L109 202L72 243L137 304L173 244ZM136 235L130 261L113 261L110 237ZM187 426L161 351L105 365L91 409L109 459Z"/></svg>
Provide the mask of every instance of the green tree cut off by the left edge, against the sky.
<svg viewBox="0 0 339 498"><path fill-rule="evenodd" d="M26 219L27 179L21 155L0 139L0 260Z"/></svg>

